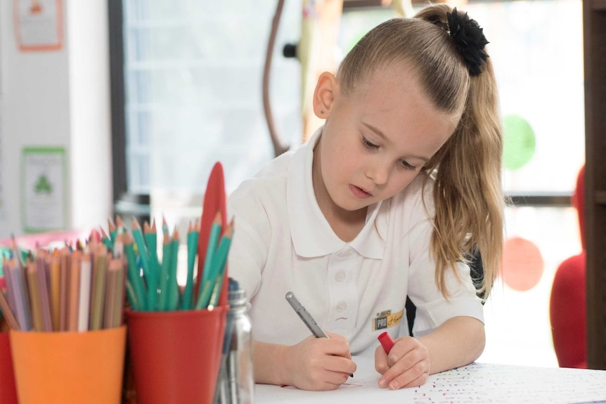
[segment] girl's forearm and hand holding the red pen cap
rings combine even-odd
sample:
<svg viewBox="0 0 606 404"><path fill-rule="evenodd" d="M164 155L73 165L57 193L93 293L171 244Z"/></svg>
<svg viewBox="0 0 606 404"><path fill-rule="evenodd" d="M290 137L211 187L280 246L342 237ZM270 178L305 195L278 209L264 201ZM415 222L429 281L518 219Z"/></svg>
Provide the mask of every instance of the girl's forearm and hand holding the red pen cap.
<svg viewBox="0 0 606 404"><path fill-rule="evenodd" d="M420 386L430 374L472 363L484 351L485 341L484 324L460 316L418 339L397 339L389 355L378 346L375 368L382 374L379 385L392 390Z"/></svg>

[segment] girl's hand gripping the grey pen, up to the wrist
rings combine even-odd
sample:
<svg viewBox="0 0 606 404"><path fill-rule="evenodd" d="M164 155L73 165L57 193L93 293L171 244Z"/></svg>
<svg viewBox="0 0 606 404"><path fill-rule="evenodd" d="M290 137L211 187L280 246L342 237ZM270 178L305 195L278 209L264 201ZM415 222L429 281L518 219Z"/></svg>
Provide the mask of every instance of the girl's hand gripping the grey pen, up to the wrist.
<svg viewBox="0 0 606 404"><path fill-rule="evenodd" d="M356 371L347 339L327 334L330 338L310 336L287 348L289 384L303 390L334 390Z"/></svg>

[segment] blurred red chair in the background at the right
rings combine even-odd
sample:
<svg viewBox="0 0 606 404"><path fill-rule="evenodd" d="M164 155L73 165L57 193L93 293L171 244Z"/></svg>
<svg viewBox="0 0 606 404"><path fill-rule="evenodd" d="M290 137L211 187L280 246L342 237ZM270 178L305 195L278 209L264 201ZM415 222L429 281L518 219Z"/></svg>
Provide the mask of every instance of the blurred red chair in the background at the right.
<svg viewBox="0 0 606 404"><path fill-rule="evenodd" d="M572 195L572 206L579 214L583 251L560 263L551 287L549 317L553 348L560 367L587 367L584 174L585 167L582 167Z"/></svg>

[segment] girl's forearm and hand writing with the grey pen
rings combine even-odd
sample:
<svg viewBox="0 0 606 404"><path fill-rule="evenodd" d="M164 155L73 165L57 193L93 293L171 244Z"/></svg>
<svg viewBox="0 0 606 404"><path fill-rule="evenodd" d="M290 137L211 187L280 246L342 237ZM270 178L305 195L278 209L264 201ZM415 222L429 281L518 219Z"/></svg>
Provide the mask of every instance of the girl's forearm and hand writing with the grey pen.
<svg viewBox="0 0 606 404"><path fill-rule="evenodd" d="M254 341L254 381L303 390L337 389L355 372L356 364L347 339L329 336L310 336L292 346Z"/></svg>

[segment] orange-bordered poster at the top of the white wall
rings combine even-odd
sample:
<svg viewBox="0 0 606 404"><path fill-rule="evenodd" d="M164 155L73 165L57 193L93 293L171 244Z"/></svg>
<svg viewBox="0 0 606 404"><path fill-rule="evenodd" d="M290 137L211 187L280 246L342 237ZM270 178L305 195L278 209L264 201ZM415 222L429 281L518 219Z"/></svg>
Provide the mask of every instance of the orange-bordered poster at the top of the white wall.
<svg viewBox="0 0 606 404"><path fill-rule="evenodd" d="M61 0L14 0L13 12L20 51L56 51L63 47Z"/></svg>

